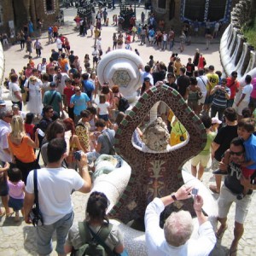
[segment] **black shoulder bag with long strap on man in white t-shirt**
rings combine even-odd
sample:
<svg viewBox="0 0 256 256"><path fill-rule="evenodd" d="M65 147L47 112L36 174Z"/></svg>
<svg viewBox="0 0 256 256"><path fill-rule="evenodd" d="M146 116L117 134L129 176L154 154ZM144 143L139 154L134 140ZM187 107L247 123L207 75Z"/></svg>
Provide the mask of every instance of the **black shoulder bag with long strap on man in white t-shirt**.
<svg viewBox="0 0 256 256"><path fill-rule="evenodd" d="M32 220L32 224L34 226L42 226L44 225L44 219L42 212L40 211L39 208L39 201L38 201L38 170L34 170L34 194L35 194L35 201L34 201L34 206L32 207L32 210L30 212L30 218Z"/></svg>

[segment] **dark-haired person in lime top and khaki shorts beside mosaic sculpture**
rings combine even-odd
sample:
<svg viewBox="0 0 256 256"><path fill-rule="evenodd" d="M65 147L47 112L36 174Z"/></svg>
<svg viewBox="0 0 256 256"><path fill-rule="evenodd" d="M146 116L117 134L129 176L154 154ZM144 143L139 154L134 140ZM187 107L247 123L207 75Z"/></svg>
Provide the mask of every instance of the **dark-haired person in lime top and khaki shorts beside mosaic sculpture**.
<svg viewBox="0 0 256 256"><path fill-rule="evenodd" d="M212 119L208 115L203 115L201 117L201 122L205 125L207 130L207 144L205 148L201 151L200 154L197 154L191 159L191 173L193 176L197 176L199 180L204 174L204 170L207 167L208 161L210 159L210 148L213 142L213 139L216 137L216 134L212 132ZM196 166L199 164L199 169L197 171Z"/></svg>

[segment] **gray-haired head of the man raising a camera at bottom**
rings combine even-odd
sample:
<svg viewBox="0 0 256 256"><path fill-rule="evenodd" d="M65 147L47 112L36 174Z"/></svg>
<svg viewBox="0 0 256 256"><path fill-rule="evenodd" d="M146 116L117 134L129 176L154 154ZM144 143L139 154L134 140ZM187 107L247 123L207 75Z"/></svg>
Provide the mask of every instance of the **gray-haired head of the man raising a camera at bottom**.
<svg viewBox="0 0 256 256"><path fill-rule="evenodd" d="M174 247L179 247L189 240L193 228L193 221L189 212L172 212L164 225L166 241Z"/></svg>

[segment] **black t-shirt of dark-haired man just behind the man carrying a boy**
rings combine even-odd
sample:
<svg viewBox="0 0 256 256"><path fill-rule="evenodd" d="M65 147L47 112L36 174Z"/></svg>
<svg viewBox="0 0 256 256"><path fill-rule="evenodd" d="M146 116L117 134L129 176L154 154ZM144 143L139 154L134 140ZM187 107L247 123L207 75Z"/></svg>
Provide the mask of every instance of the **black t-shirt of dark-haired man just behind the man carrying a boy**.
<svg viewBox="0 0 256 256"><path fill-rule="evenodd" d="M219 147L214 154L216 160L221 160L224 152L230 148L230 143L235 137L237 137L237 125L226 125L220 128L213 141L214 143L219 144Z"/></svg>

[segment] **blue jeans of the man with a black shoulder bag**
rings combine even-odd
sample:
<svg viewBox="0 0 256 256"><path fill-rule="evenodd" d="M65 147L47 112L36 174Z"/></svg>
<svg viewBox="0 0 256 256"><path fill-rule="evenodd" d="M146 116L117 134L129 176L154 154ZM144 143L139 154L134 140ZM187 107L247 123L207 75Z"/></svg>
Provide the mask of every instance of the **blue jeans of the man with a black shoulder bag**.
<svg viewBox="0 0 256 256"><path fill-rule="evenodd" d="M73 224L73 212L67 213L54 224L37 226L38 254L48 255L52 252L52 236L56 230L56 252L64 254L64 244L68 230Z"/></svg>

